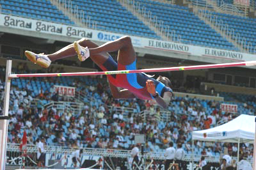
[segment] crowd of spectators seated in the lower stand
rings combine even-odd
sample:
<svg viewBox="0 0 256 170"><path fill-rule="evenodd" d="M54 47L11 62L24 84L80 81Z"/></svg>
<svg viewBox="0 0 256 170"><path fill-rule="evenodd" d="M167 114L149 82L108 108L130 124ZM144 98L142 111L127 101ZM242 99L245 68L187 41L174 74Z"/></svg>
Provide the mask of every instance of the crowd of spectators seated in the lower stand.
<svg viewBox="0 0 256 170"><path fill-rule="evenodd" d="M26 70L24 67L20 69ZM134 135L145 134L147 139L145 151L163 151L168 147L168 143L173 141L175 144L181 143L186 153L191 153L191 132L193 130L211 128L216 126L220 120L232 120L237 116L221 111L220 102L199 100L187 96L175 98L170 104L170 107L180 107L184 112L177 114L175 111L168 111L168 121L164 121L159 119L162 114L159 107L138 99L115 100L111 96L106 79L100 79L100 77L93 79L97 80L97 84L90 86L79 83L76 78L72 82L72 85L79 87L80 93L84 93L90 101L84 105L81 112L73 112L68 109L59 111L56 107L45 108L42 100L67 100L65 96L59 97L52 86L49 91L41 89L39 95L35 97L31 96L31 84L29 83L26 88L22 89L12 86L8 143L20 144L22 132L26 130L28 144L36 144L36 140L44 137L47 145L131 150L134 144ZM42 81L56 83L59 80L44 78ZM3 79L0 88L2 82ZM92 102L97 101L94 98L95 93L102 100L99 105L92 105ZM32 105L31 102L35 98L36 103ZM68 100L75 101L74 98ZM126 115L124 109L115 110L117 107L131 107L134 108L134 111L138 111L138 106L140 111L152 112L153 116L148 116L145 121L138 113ZM210 107L212 112L207 112L205 107ZM209 157L220 154L224 148L227 148L230 155L235 155L237 151L236 144L195 141L195 146L196 154ZM240 151L247 157L252 157L252 145L241 144Z"/></svg>

